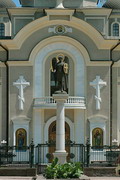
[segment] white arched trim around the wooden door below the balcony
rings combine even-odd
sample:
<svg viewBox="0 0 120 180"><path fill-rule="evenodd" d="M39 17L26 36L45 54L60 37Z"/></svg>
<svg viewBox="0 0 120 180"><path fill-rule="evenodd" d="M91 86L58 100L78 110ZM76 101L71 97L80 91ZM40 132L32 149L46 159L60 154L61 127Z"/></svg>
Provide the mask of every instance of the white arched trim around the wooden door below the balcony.
<svg viewBox="0 0 120 180"><path fill-rule="evenodd" d="M56 116L50 118L44 126L44 143L48 142L48 130L49 126L51 125L52 122L56 121ZM74 141L74 123L67 117L65 117L65 122L68 123L70 127L70 140Z"/></svg>

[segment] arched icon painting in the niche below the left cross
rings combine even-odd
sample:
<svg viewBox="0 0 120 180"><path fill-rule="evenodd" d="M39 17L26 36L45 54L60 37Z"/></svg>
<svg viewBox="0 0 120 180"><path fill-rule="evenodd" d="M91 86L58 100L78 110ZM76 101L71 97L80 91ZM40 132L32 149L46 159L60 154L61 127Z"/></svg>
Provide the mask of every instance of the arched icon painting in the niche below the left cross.
<svg viewBox="0 0 120 180"><path fill-rule="evenodd" d="M16 131L16 146L23 147L27 145L27 132L20 128Z"/></svg>

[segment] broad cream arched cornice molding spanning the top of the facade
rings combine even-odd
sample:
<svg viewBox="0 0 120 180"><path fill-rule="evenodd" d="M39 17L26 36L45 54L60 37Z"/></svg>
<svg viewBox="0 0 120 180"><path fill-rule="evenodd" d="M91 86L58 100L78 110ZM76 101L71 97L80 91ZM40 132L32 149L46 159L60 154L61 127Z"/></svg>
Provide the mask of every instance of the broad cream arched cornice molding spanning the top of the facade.
<svg viewBox="0 0 120 180"><path fill-rule="evenodd" d="M52 10L47 10L52 11ZM63 10L57 10L57 14L62 14ZM68 10L66 10L68 11ZM63 11L63 12L66 12ZM70 11L72 12L72 11ZM74 12L74 11L73 11ZM55 12L54 12L55 13ZM54 14L53 13L53 14ZM67 12L66 12L67 13ZM70 24L71 22L71 24ZM25 27L23 27L12 40L0 40L0 43L8 48L8 49L20 49L23 43L36 31L45 28L54 26L57 24L64 24L65 26L71 25L71 28L76 28L82 32L84 32L87 36L92 39L92 41L95 43L96 47L98 49L111 49L114 45L118 43L119 40L105 40L100 33L93 28L91 25L86 23L85 21L75 18L72 16L71 21L66 20L52 20L49 21L49 18L47 16L43 18L39 18L37 20L32 21L31 23L27 24Z"/></svg>

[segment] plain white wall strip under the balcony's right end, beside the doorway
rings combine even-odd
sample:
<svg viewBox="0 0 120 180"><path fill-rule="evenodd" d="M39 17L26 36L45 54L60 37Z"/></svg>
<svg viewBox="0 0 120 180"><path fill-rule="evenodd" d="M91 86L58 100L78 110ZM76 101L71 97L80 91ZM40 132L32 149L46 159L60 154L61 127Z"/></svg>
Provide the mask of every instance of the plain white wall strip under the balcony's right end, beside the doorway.
<svg viewBox="0 0 120 180"><path fill-rule="evenodd" d="M85 144L85 112L84 110L74 110L75 142Z"/></svg>

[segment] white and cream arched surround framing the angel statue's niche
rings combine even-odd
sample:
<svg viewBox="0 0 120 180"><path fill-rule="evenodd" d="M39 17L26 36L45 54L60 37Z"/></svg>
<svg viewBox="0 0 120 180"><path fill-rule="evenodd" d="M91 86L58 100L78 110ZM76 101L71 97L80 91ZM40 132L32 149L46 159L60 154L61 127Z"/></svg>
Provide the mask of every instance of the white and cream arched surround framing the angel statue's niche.
<svg viewBox="0 0 120 180"><path fill-rule="evenodd" d="M54 53L65 53L74 61L75 85L74 95L85 97L86 64L90 64L90 57L86 49L76 40L63 36L54 36L40 42L32 51L29 61L34 65L34 98L45 94L45 62ZM39 81L38 81L39 78ZM79 91L81 89L81 91ZM39 90L39 91L38 91ZM41 90L41 91L40 91Z"/></svg>

